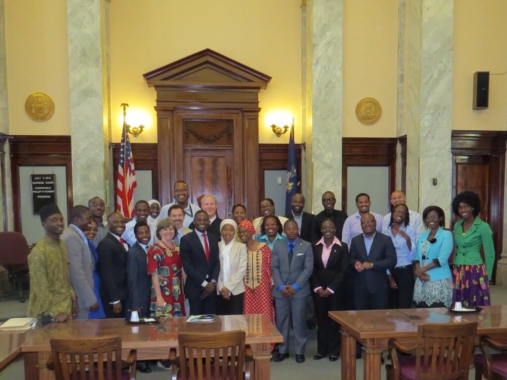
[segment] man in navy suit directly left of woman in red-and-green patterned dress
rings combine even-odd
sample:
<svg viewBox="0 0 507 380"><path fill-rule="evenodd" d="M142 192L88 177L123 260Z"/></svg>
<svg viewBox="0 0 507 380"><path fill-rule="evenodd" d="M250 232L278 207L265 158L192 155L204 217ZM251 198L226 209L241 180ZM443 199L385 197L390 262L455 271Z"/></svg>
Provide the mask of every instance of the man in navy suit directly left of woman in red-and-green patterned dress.
<svg viewBox="0 0 507 380"><path fill-rule="evenodd" d="M136 242L128 250L127 261L128 307L137 310L139 315L149 317L152 276L148 274L147 253L152 237L150 226L146 222L137 222L134 234Z"/></svg>

